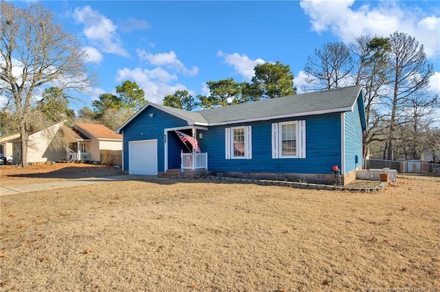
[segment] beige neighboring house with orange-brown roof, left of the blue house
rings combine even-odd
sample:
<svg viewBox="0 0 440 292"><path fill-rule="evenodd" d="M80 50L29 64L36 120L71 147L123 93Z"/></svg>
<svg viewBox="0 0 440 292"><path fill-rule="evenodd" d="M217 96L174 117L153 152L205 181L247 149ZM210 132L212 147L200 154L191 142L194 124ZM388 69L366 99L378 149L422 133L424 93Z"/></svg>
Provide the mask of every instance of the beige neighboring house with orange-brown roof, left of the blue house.
<svg viewBox="0 0 440 292"><path fill-rule="evenodd" d="M115 134L108 127L93 123L75 123L74 127L56 123L51 127L30 134L28 142L28 162L47 161L97 161L100 150L122 150L122 135ZM57 132L63 135L66 149L54 150L50 145ZM20 140L12 143L12 163L21 162Z"/></svg>

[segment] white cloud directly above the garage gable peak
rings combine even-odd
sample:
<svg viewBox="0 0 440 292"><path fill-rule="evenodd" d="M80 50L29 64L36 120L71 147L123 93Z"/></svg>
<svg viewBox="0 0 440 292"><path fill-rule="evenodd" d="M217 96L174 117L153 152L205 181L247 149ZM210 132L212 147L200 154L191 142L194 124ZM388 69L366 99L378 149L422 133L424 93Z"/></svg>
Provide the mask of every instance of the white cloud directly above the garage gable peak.
<svg viewBox="0 0 440 292"><path fill-rule="evenodd" d="M156 104L162 104L164 97L175 93L176 90L188 90L183 84L171 84L177 80L177 75L172 75L161 67L156 67L153 70L120 69L116 81L123 82L124 80L136 82L144 90L145 99Z"/></svg>

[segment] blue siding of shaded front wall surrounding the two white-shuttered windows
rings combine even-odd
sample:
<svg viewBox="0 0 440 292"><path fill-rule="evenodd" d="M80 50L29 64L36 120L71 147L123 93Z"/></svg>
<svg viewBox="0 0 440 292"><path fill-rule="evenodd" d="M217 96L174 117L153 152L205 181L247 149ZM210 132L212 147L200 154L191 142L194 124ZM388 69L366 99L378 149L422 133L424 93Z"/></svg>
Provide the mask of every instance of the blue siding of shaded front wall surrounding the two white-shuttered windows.
<svg viewBox="0 0 440 292"><path fill-rule="evenodd" d="M272 159L272 123L306 121L306 158ZM225 159L225 127L214 126L203 132L201 151L208 152L210 171L267 173L331 173L340 165L340 113L296 119L279 119L245 123L252 125L252 159ZM228 127L243 124L228 125Z"/></svg>

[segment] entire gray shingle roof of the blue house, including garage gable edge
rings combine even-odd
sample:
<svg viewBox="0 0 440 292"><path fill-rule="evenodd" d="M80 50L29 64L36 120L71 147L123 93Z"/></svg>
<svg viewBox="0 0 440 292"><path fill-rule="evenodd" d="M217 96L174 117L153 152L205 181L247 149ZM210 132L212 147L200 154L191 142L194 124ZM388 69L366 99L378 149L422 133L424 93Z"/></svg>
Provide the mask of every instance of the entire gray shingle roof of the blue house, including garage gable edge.
<svg viewBox="0 0 440 292"><path fill-rule="evenodd" d="M138 110L133 117L116 130L120 132L125 125L130 123L138 114L148 107L158 108L176 117L184 119L188 125L226 125L248 121L263 121L281 119L284 117L299 117L312 114L325 114L330 112L347 112L353 110L356 101L362 92L362 86L349 86L331 90L316 91L264 99L234 106L223 106L188 112L178 108L162 106L148 102ZM362 98L362 97L361 97Z"/></svg>

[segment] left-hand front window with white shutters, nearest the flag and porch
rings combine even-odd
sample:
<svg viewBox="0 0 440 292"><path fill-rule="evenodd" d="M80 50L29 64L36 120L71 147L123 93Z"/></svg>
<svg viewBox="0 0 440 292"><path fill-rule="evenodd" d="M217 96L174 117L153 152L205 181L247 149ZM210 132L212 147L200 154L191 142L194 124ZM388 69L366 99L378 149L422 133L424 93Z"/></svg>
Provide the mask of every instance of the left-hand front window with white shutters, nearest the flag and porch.
<svg viewBox="0 0 440 292"><path fill-rule="evenodd" d="M252 159L252 126L225 128L225 158Z"/></svg>

